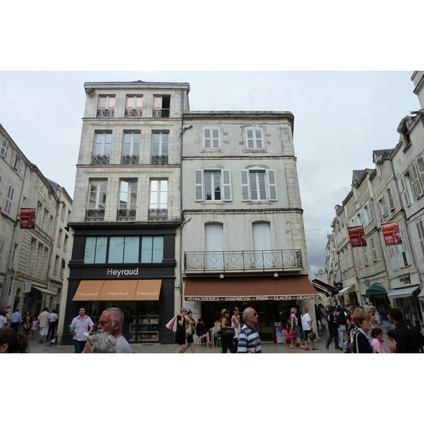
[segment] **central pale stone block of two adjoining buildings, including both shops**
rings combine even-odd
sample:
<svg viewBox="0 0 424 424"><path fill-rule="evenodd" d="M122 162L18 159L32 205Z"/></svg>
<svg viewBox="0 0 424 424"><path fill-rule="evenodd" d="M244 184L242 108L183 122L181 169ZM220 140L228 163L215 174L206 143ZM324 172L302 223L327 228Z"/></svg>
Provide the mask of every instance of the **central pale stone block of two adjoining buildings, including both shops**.
<svg viewBox="0 0 424 424"><path fill-rule="evenodd" d="M117 306L129 341L173 343L181 305L251 305L269 337L313 310L293 114L191 112L188 83L84 88L66 322Z"/></svg>

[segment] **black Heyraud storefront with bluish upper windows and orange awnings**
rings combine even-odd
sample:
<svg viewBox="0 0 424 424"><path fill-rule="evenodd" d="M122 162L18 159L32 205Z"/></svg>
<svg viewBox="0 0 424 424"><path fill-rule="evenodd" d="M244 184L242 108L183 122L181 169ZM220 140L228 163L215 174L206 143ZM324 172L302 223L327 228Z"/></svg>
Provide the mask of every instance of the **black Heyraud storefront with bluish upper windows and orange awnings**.
<svg viewBox="0 0 424 424"><path fill-rule="evenodd" d="M165 324L175 312L178 223L71 227L74 240L61 344L73 343L67 329L79 307L86 307L95 324L103 310L119 307L125 317L122 333L129 343L174 343Z"/></svg>

